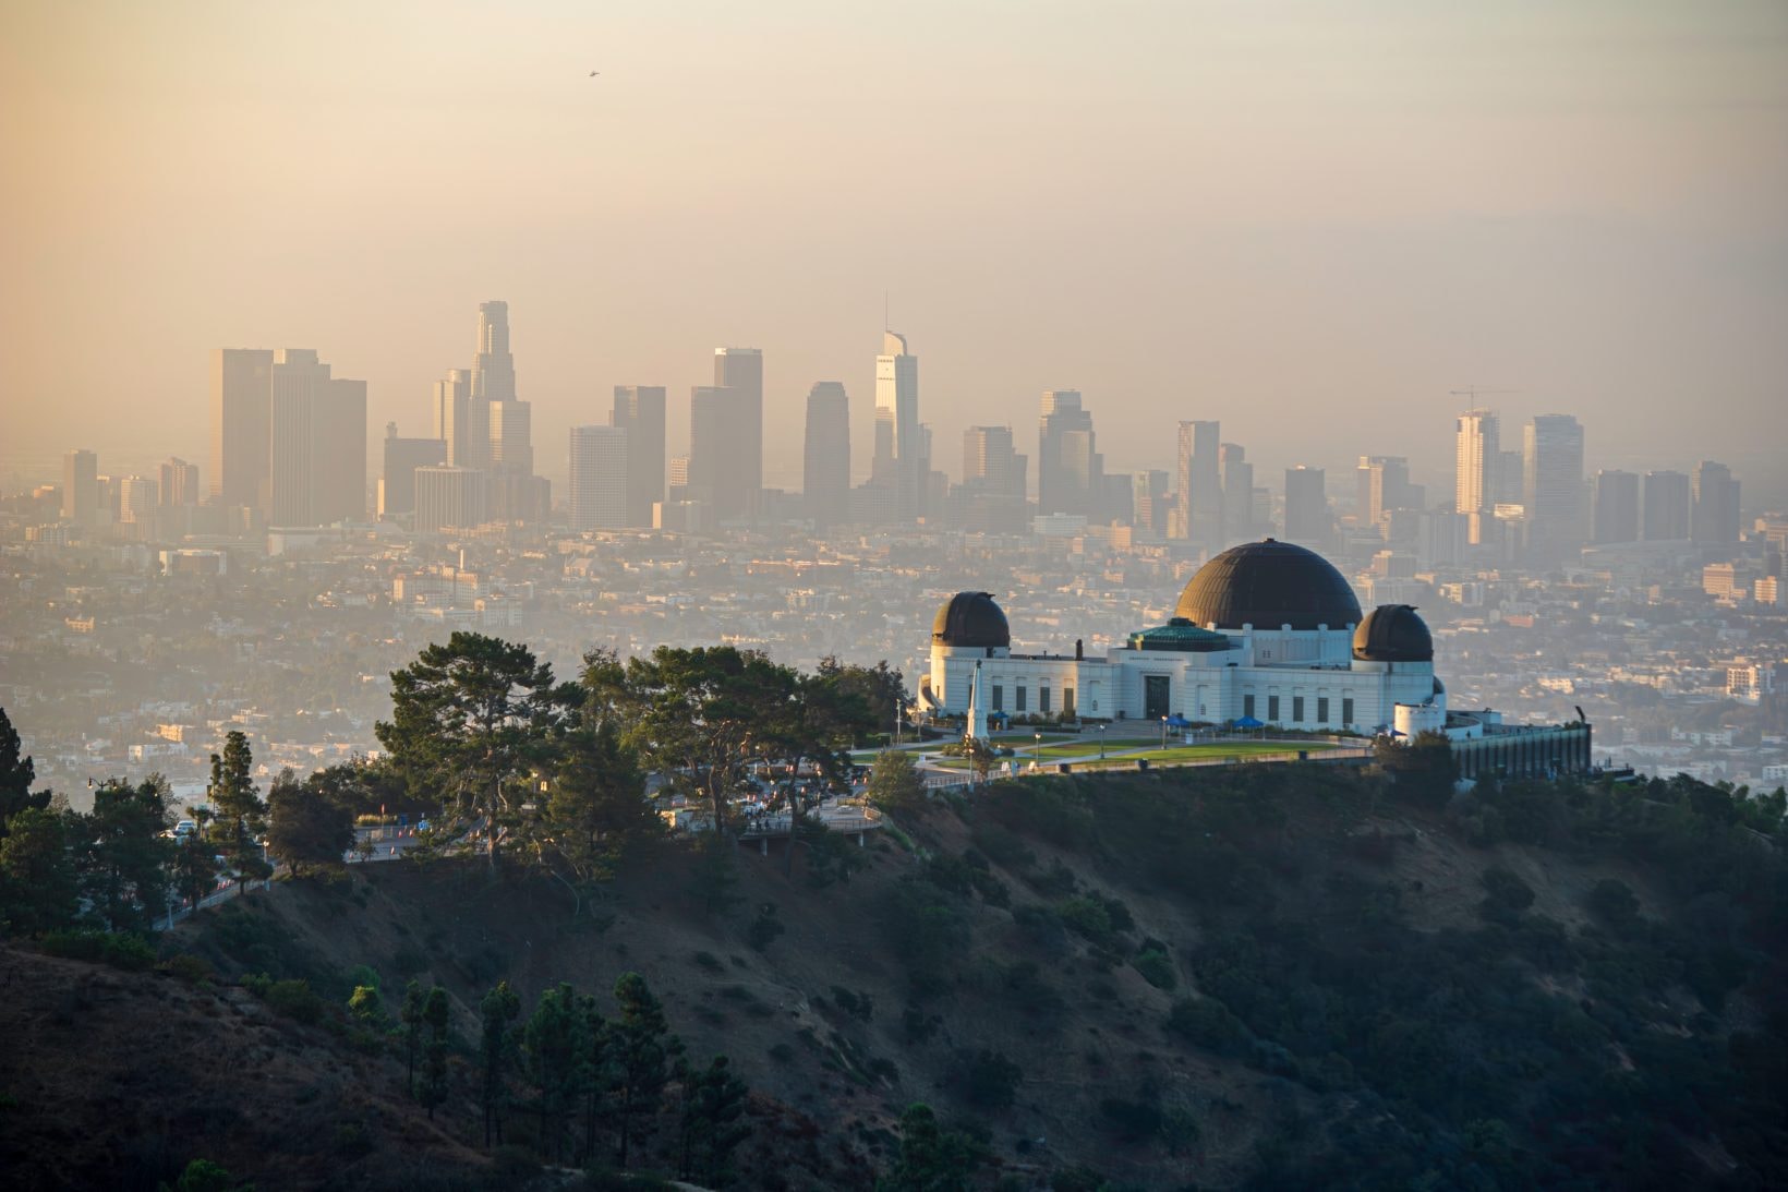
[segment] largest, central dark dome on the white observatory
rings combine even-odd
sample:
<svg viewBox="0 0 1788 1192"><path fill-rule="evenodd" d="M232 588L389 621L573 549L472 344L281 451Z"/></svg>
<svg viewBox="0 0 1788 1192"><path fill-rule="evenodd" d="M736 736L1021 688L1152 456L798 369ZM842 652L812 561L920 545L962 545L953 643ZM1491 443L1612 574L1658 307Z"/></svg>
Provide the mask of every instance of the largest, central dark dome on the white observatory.
<svg viewBox="0 0 1788 1192"><path fill-rule="evenodd" d="M1227 630L1346 628L1359 625L1359 600L1316 551L1266 539L1232 546L1200 567L1180 592L1175 616Z"/></svg>

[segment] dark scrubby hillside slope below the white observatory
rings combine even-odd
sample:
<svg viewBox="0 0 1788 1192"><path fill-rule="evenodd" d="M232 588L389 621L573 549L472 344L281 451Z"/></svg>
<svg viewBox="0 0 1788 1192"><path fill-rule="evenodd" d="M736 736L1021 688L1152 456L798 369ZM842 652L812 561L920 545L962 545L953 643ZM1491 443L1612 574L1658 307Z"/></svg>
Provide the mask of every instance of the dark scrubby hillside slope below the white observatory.
<svg viewBox="0 0 1788 1192"><path fill-rule="evenodd" d="M722 909L665 843L576 918L520 868L397 863L281 882L164 949L338 1004L356 965L388 999L434 981L468 1038L497 979L526 1018L560 981L606 1004L640 972L688 1054L728 1054L755 1090L742 1187L867 1188L915 1101L983 1140L987 1187L1779 1185L1781 859L1650 795L1484 791L1443 813L1318 766L1050 779L903 816L848 881L738 850ZM0 1022L46 1031L7 1074L29 1090L13 1145L97 1151L82 1115L111 1103L91 1090L141 1083L179 1106L163 1133L204 1122L191 1153L263 1190L320 1187L331 1163L275 1163L275 1142L300 1156L352 1122L359 1187L424 1187L379 1183L379 1156L427 1156L411 1179L481 1162L467 1070L429 1128L392 1058L263 1022L247 993L32 965ZM107 1042L168 1027L59 1072L57 1013ZM252 1110L207 1117L188 1083ZM527 1144L526 1081L511 1094L506 1137ZM669 1133L647 1165L669 1171Z"/></svg>

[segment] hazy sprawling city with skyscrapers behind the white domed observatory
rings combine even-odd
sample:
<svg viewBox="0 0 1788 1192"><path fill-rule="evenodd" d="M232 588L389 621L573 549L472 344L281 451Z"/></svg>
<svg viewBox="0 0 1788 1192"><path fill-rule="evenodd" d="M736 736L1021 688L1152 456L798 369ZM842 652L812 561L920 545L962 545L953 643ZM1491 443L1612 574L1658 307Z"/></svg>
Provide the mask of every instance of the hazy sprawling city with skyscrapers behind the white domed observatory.
<svg viewBox="0 0 1788 1192"><path fill-rule="evenodd" d="M687 451L667 455L665 387L615 387L606 424L570 430L552 494L501 301L418 410L431 433L374 440L370 481L363 381L309 349L218 349L204 467L114 476L77 447L59 481L7 494L0 702L77 798L152 771L195 795L229 728L266 773L375 755L388 671L456 628L524 637L561 669L715 641L797 666L885 659L914 693L955 591L994 592L1025 646L1105 650L1168 619L1203 560L1278 537L1334 558L1362 607L1420 607L1454 707L1588 714L1598 761L1641 773L1788 775L1788 515L1745 508L1718 462L1590 473L1575 417L1504 428L1466 390L1452 499L1382 455L1259 483L1218 419L1162 428L1175 469L1125 471L1091 403L1051 390L1035 440L974 426L951 474L917 354L890 331L873 363L858 483L848 388L819 381L805 489L765 489L763 356L722 347L688 396Z"/></svg>

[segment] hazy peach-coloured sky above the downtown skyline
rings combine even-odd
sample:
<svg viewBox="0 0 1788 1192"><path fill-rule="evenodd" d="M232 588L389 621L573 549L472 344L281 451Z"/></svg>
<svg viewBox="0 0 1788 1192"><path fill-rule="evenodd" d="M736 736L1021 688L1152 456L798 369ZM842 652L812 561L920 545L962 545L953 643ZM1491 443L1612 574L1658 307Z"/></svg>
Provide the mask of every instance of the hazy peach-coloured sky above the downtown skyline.
<svg viewBox="0 0 1788 1192"><path fill-rule="evenodd" d="M1788 501L1777 2L7 0L0 140L5 481L209 473L218 345L316 347L374 438L427 433L506 299L540 471L617 383L670 387L681 453L738 344L799 487L814 381L867 453L887 294L949 473L1078 387L1112 469L1216 417L1264 469L1439 481L1477 383L1591 469Z"/></svg>

